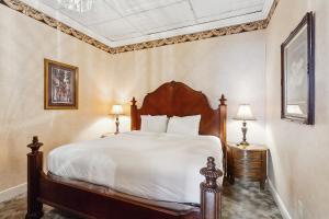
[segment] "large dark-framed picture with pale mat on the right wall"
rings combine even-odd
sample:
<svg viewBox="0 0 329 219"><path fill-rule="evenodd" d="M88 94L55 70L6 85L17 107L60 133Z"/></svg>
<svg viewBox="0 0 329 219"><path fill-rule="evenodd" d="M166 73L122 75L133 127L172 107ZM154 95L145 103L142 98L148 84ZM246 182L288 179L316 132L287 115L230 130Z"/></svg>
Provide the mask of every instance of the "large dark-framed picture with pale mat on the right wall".
<svg viewBox="0 0 329 219"><path fill-rule="evenodd" d="M281 117L315 123L315 24L307 13L281 45Z"/></svg>

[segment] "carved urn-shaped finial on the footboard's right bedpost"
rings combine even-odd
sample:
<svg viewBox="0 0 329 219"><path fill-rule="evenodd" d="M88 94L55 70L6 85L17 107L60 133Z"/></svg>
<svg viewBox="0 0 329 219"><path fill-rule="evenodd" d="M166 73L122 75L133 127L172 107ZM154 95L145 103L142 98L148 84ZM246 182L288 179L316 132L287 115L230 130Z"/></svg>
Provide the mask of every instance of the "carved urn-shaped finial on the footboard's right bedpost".
<svg viewBox="0 0 329 219"><path fill-rule="evenodd" d="M215 159L213 157L208 157L207 166L201 169L200 173L206 178L206 181L201 184L203 188L214 193L217 193L220 189L216 181L223 175L223 172L219 169L216 169Z"/></svg>

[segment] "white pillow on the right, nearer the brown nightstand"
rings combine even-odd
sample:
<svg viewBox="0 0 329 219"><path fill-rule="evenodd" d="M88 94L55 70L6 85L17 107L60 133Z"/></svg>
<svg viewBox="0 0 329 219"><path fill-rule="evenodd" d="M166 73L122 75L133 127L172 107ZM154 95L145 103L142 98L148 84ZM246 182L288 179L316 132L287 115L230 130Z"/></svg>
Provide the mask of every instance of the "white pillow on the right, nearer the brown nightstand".
<svg viewBox="0 0 329 219"><path fill-rule="evenodd" d="M169 119L167 132L168 134L186 134L186 135L198 135L201 115L196 116L173 116Z"/></svg>

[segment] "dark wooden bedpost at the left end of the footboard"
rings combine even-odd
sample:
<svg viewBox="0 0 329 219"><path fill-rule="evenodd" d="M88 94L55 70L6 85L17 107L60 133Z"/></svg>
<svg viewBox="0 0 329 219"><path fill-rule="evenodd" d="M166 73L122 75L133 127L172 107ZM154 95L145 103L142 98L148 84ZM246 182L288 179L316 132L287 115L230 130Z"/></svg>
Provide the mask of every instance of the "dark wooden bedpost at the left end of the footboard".
<svg viewBox="0 0 329 219"><path fill-rule="evenodd" d="M37 200L43 170L43 152L38 151L42 146L37 136L34 136L32 143L27 145L32 152L27 153L27 214L25 219L39 219L44 215L43 204Z"/></svg>

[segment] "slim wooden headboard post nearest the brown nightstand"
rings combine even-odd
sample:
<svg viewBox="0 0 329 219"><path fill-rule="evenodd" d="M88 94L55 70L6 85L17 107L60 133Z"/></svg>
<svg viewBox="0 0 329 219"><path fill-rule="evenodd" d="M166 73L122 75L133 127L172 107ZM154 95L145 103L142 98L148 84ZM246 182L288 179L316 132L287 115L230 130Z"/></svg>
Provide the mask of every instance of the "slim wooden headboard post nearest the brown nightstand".
<svg viewBox="0 0 329 219"><path fill-rule="evenodd" d="M219 99L219 137L222 140L222 149L223 149L223 169L224 169L224 176L227 177L227 147L226 147L226 120L227 120L227 105L226 105L226 97L222 94Z"/></svg>

